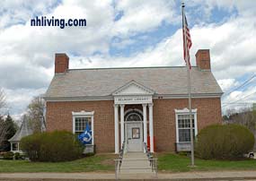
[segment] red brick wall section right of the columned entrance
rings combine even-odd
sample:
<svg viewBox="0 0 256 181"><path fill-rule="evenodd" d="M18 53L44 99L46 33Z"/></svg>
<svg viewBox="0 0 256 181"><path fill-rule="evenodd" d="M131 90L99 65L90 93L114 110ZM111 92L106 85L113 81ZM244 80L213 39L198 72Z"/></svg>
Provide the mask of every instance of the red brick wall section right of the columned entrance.
<svg viewBox="0 0 256 181"><path fill-rule="evenodd" d="M188 99L154 99L153 120L156 151L175 151L176 126L174 109L188 108ZM198 108L198 130L221 123L220 99L192 99Z"/></svg>

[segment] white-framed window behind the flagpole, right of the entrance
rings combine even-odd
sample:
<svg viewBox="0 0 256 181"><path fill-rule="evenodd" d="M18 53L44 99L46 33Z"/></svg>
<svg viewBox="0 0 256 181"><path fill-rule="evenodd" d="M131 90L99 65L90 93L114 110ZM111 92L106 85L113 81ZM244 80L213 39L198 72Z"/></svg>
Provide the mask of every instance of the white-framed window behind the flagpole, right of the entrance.
<svg viewBox="0 0 256 181"><path fill-rule="evenodd" d="M176 142L190 142L190 111L188 108L175 109L176 114ZM192 109L192 127L194 136L198 134L197 109Z"/></svg>

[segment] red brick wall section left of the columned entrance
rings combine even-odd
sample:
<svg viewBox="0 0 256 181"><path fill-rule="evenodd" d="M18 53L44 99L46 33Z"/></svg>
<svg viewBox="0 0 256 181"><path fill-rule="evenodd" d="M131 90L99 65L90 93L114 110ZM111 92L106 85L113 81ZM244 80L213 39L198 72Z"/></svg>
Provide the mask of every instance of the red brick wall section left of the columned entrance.
<svg viewBox="0 0 256 181"><path fill-rule="evenodd" d="M94 143L96 151L115 151L113 101L47 102L47 131L72 132L72 111L94 111Z"/></svg>

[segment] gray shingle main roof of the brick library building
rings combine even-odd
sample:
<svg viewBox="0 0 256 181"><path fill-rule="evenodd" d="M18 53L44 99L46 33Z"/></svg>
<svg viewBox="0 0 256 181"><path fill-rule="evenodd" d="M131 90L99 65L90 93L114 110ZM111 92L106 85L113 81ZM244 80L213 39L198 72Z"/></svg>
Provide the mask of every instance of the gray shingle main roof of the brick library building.
<svg viewBox="0 0 256 181"><path fill-rule="evenodd" d="M45 98L110 96L130 81L136 81L156 94L187 94L186 67L138 67L69 69L56 73ZM210 71L191 70L192 94L222 93Z"/></svg>

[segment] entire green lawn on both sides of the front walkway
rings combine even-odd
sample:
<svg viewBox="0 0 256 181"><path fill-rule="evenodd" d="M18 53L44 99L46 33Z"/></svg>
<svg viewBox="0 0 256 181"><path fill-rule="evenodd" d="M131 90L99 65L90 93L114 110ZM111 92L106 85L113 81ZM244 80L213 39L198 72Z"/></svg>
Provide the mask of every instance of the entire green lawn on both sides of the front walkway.
<svg viewBox="0 0 256 181"><path fill-rule="evenodd" d="M190 167L190 158L172 153L156 154L161 172L211 171L211 170L252 170L256 159L246 160L204 160L195 159L196 167ZM67 162L31 162L28 160L0 159L0 173L4 172L114 172L114 154L96 154L92 157Z"/></svg>

